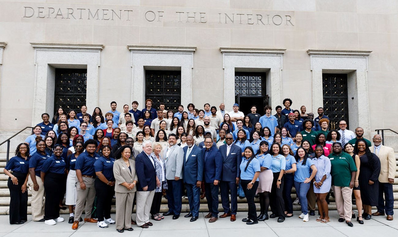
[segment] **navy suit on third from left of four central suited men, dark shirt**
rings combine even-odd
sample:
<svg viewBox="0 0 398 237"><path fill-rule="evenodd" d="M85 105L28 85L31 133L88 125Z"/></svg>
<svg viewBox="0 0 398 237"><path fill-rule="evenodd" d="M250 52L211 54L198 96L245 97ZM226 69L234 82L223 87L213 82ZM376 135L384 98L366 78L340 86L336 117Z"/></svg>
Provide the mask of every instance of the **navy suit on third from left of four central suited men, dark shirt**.
<svg viewBox="0 0 398 237"><path fill-rule="evenodd" d="M214 185L214 181L221 179L222 156L217 146L212 146L209 150L202 149L205 165L203 168L205 178L205 192L207 206L212 216L218 218L219 214L219 185Z"/></svg>

